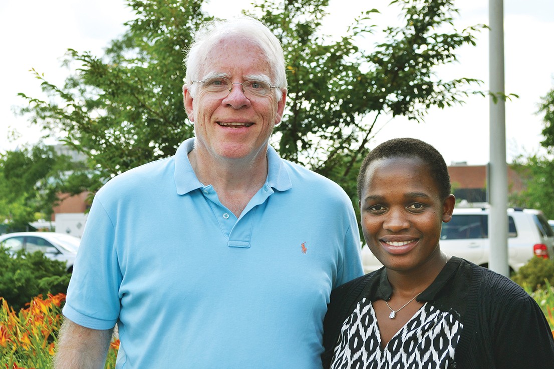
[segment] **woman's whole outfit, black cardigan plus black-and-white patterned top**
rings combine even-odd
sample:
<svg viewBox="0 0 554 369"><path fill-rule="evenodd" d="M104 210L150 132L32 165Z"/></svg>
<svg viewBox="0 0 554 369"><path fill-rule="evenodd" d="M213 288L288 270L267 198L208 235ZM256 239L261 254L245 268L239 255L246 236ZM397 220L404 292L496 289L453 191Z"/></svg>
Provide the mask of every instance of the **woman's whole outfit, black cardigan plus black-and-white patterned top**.
<svg viewBox="0 0 554 369"><path fill-rule="evenodd" d="M541 308L489 269L450 258L417 296L423 306L383 349L372 301L391 295L384 268L332 291L324 369L554 368L554 340Z"/></svg>

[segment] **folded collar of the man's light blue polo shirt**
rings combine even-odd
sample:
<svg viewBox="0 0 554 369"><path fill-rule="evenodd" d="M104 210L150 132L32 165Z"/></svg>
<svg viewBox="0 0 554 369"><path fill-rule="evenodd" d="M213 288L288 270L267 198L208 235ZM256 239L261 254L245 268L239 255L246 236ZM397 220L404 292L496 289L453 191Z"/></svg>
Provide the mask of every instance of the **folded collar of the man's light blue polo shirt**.
<svg viewBox="0 0 554 369"><path fill-rule="evenodd" d="M194 137L181 143L175 153L175 173L173 178L177 193L182 195L194 191L198 188L204 188L202 182L198 181L191 162L188 160L188 153L194 148ZM276 191L286 191L293 187L290 181L289 172L286 169L284 161L271 146L268 146L268 178L266 184Z"/></svg>

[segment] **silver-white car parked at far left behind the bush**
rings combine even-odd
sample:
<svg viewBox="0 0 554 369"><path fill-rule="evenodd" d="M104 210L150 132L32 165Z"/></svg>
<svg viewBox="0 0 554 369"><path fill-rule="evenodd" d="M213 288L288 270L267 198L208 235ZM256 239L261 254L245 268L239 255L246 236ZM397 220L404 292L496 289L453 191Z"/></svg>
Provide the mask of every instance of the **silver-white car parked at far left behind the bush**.
<svg viewBox="0 0 554 369"><path fill-rule="evenodd" d="M54 232L15 232L0 235L0 246L12 252L25 250L43 252L49 259L66 263L69 273L73 271L75 255L81 239L70 234Z"/></svg>

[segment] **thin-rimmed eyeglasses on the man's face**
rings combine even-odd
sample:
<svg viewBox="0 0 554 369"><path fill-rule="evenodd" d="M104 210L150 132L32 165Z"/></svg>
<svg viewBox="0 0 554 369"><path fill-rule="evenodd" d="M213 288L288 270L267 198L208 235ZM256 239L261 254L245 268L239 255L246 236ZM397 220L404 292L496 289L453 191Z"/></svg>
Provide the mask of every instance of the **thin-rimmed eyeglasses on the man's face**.
<svg viewBox="0 0 554 369"><path fill-rule="evenodd" d="M214 98L223 99L226 98L233 85L242 85L242 91L248 99L252 98L265 98L271 93L271 89L277 89L278 86L272 86L266 81L252 79L244 83L231 82L230 79L223 77L206 78L203 81L192 81L193 83L202 83L202 86L206 93L212 95Z"/></svg>

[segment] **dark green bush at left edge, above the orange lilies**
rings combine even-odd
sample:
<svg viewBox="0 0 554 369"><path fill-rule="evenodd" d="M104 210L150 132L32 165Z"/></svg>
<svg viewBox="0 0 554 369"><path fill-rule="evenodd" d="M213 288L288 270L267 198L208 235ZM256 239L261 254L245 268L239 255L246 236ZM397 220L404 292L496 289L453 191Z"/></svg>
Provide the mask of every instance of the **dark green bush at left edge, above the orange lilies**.
<svg viewBox="0 0 554 369"><path fill-rule="evenodd" d="M41 252L11 254L0 248L0 296L16 311L40 294L66 293L70 276L64 262Z"/></svg>

